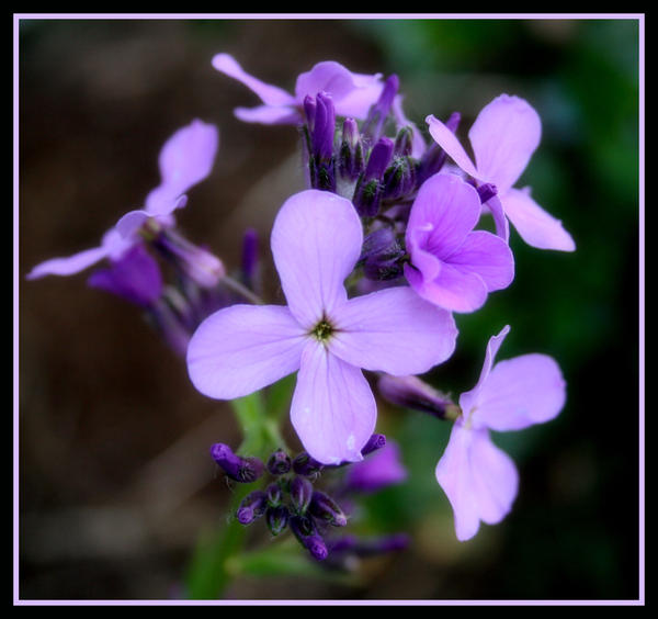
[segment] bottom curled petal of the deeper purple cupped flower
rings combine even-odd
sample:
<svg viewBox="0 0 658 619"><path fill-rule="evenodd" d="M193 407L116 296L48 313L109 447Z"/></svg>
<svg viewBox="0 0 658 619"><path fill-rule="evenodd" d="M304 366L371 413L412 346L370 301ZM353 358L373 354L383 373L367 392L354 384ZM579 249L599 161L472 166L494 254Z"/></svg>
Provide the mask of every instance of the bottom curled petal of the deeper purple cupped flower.
<svg viewBox="0 0 658 619"><path fill-rule="evenodd" d="M487 300L487 284L483 278L447 263L441 266L441 273L433 280L421 280L409 265L405 265L405 277L420 296L449 312L475 312Z"/></svg>

